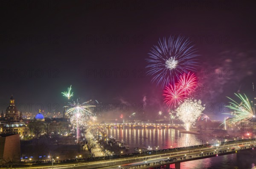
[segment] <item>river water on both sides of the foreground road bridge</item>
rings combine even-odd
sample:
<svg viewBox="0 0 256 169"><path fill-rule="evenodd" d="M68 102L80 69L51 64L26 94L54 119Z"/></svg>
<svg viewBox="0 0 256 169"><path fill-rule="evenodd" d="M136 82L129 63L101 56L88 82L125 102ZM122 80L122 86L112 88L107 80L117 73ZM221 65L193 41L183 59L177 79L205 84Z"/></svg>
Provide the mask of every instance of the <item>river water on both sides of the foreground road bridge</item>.
<svg viewBox="0 0 256 169"><path fill-rule="evenodd" d="M114 137L129 146L129 149L120 150L124 153L135 152L134 148L168 149L183 146L193 146L213 143L218 146L217 138L211 135L194 135L182 133L176 129L129 129L112 128L101 130L108 137ZM142 152L143 153L143 152ZM171 166L174 168L174 166ZM256 169L256 158L239 157L236 154L218 156L181 163L181 169Z"/></svg>

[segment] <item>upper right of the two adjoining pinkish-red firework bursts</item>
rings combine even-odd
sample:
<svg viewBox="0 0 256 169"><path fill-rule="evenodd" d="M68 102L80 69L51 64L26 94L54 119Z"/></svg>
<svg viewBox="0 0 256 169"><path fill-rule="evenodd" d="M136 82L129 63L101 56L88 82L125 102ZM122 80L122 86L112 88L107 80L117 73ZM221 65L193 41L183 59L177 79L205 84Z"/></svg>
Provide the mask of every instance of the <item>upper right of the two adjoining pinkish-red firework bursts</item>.
<svg viewBox="0 0 256 169"><path fill-rule="evenodd" d="M184 73L180 75L177 82L177 87L181 89L184 95L189 95L191 92L195 91L197 86L197 78L194 73Z"/></svg>

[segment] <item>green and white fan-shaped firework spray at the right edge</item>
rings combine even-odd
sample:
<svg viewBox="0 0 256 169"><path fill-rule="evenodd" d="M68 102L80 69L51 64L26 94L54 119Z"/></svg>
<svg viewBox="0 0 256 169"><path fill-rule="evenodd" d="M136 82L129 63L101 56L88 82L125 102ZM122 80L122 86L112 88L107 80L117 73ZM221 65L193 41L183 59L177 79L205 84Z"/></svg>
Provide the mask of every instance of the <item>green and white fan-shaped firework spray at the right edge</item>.
<svg viewBox="0 0 256 169"><path fill-rule="evenodd" d="M247 99L246 95L244 94L243 96L241 94L236 93L235 95L241 100L241 103L237 103L235 100L231 99L230 97L227 97L230 100L232 100L232 102L229 102L230 105L226 107L233 110L233 112L231 113L223 113L226 115L232 115L232 117L229 118L227 122L233 124L236 122L251 120L252 118L255 118L254 109L252 108L252 105L250 101Z"/></svg>

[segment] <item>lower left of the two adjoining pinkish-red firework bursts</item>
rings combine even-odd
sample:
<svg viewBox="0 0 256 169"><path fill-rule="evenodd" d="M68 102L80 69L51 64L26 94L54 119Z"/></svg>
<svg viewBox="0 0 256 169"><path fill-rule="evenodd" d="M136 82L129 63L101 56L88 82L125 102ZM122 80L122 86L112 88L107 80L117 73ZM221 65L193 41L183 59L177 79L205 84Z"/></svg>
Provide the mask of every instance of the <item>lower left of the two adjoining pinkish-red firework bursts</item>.
<svg viewBox="0 0 256 169"><path fill-rule="evenodd" d="M174 87L172 85L169 87L166 86L166 89L163 92L163 95L165 96L164 102L166 102L167 106L176 107L186 98L184 97L182 90L175 85Z"/></svg>

